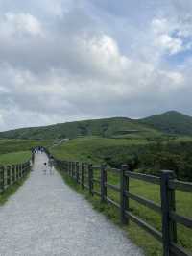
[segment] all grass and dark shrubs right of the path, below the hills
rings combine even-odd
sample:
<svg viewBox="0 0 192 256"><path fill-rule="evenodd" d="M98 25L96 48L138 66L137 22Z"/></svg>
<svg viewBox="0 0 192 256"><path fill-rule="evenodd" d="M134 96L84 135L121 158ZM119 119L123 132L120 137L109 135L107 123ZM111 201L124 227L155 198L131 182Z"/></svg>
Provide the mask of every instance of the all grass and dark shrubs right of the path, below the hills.
<svg viewBox="0 0 192 256"><path fill-rule="evenodd" d="M104 163L108 166L120 167L122 163L132 166L134 171L159 174L159 170L174 169L180 179L191 180L192 164L192 139L187 137L161 137L159 139L106 139L100 137L78 138L60 144L51 149L52 154L59 159L71 161ZM82 191L67 175L61 173L65 181L83 193L93 206L103 212L115 223L119 223L119 212L108 204L101 204L100 199L91 197L88 192ZM99 177L96 171L95 176ZM108 173L108 181L118 185L117 175ZM95 185L99 190L99 186ZM156 203L160 201L159 187L142 181L131 179L132 193L146 197ZM119 194L108 189L108 196L119 202ZM192 218L192 196L187 192L176 192L177 212ZM161 230L161 218L152 210L139 205L131 200L130 208L134 215ZM161 244L148 235L145 231L132 223L123 227L128 231L132 241L141 246L146 255L162 255ZM192 251L192 231L178 225L179 244Z"/></svg>

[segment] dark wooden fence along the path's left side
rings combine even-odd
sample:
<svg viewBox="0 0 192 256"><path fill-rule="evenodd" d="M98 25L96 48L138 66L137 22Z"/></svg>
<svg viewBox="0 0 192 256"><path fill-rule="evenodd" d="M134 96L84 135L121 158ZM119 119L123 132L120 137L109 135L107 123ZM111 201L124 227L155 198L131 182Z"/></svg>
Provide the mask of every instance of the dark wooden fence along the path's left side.
<svg viewBox="0 0 192 256"><path fill-rule="evenodd" d="M30 160L18 165L0 166L0 193L22 179L30 170Z"/></svg>

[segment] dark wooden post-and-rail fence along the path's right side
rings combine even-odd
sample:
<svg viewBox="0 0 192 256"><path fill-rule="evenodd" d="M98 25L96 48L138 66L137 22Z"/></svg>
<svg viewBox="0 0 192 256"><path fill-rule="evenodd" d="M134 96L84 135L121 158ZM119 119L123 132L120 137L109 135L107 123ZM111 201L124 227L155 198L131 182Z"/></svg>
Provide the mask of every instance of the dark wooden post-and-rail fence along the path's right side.
<svg viewBox="0 0 192 256"><path fill-rule="evenodd" d="M48 156L50 154L48 152ZM101 202L108 203L119 209L121 222L129 224L132 220L138 226L150 233L156 240L163 245L163 255L180 255L189 256L183 247L177 243L177 223L192 228L192 219L180 216L176 212L175 191L192 192L192 184L180 182L174 178L174 172L170 170L161 171L161 176L156 177L142 173L135 173L129 170L129 166L123 165L121 169L108 168L107 166L93 166L79 162L67 162L55 159L56 166L61 171L67 173L73 178L82 189L87 189L90 195L99 196ZM97 170L97 176L95 176ZM99 170L99 177L98 177ZM119 174L119 186L108 183L108 171ZM145 181L147 183L156 184L160 190L160 204L146 199L137 194L133 194L129 190L130 178L135 180ZM95 184L99 184L99 191L96 190ZM119 202L116 202L108 197L108 188L119 193ZM148 207L161 216L162 228L161 232L155 227L136 217L132 214L129 208L130 199L137 203Z"/></svg>

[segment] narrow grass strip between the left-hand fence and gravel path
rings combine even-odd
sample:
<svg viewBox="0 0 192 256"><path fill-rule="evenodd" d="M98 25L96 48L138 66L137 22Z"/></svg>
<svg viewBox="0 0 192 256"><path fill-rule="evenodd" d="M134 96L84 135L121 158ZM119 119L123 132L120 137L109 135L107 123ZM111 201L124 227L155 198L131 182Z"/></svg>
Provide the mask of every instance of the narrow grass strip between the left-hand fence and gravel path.
<svg viewBox="0 0 192 256"><path fill-rule="evenodd" d="M4 192L0 193L0 206L4 205L10 196L14 194L19 187L23 185L23 183L27 180L29 174L20 179L19 181L16 181L12 186L10 186L8 189L6 189Z"/></svg>

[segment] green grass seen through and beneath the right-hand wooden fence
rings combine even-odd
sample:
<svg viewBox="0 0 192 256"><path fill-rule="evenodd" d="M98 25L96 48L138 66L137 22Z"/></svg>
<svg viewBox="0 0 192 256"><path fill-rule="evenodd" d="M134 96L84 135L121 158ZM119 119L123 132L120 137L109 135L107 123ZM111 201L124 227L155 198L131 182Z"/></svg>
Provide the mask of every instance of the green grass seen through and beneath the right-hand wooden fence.
<svg viewBox="0 0 192 256"><path fill-rule="evenodd" d="M90 196L87 190L82 190L80 185L72 180L67 174L60 171L61 176L65 180L65 182L74 188L77 192L84 194L85 198L92 204L93 208L102 212L107 218L111 219L115 224L120 225L128 234L128 237L132 240L133 243L140 246L145 255L149 256L161 256L162 255L162 245L158 243L156 239L154 239L147 232L139 228L136 224L130 221L130 225L122 226L120 223L119 211L108 204L104 204L100 202L100 198L98 196ZM95 177L99 177L99 172L95 171ZM111 184L119 184L119 177L117 174L112 174L108 172L108 182ZM94 190L99 191L100 186L94 185ZM130 181L130 191L137 195L141 195L145 198L151 199L156 203L159 203L160 194L159 194L159 186L149 184L142 181L136 181L131 179ZM119 193L114 192L108 189L108 197L119 202ZM192 218L192 196L187 192L177 192L177 212L185 217ZM161 218L154 211L144 207L132 200L130 200L130 209L134 215L137 217L147 221L157 230L161 231ZM178 240L179 244L185 247L188 251L192 252L192 230L184 228L178 225Z"/></svg>

